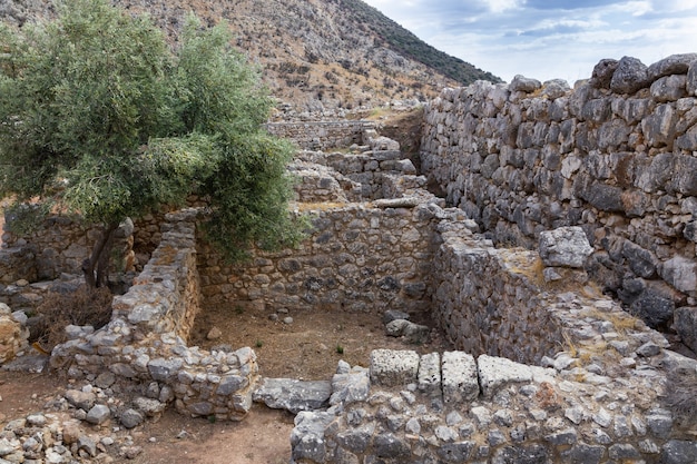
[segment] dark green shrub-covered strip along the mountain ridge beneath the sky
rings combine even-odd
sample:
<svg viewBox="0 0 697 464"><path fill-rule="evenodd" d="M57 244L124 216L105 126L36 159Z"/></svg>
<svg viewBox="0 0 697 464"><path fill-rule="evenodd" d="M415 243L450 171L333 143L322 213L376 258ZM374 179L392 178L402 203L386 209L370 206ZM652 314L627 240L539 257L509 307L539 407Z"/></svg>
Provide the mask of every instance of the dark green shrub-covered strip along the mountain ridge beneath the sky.
<svg viewBox="0 0 697 464"><path fill-rule="evenodd" d="M477 80L501 82L501 79L491 72L482 71L469 62L431 47L412 32L408 31L363 1L341 1L346 8L352 10L360 22L365 24L372 30L373 33L384 40L387 47L393 48L405 57L420 61L464 86L468 86Z"/></svg>

